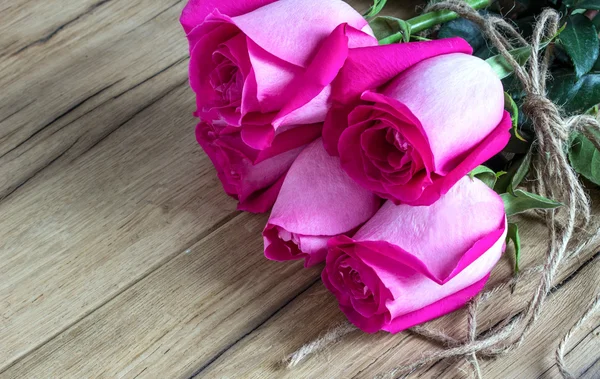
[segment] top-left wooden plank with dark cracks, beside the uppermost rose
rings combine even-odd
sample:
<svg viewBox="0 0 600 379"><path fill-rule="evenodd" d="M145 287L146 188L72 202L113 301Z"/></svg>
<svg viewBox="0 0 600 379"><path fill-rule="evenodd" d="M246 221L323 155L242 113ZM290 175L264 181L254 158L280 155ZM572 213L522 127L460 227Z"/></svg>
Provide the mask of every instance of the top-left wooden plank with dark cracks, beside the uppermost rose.
<svg viewBox="0 0 600 379"><path fill-rule="evenodd" d="M182 1L152 7L140 0L82 1L77 16L71 7L63 16L62 3L53 1L54 13L45 16L58 30L52 38L44 39L45 29L36 26L44 31L33 38L43 43L0 58L0 199L50 163L60 166L87 151L185 81L187 46L176 21ZM28 29L45 9L33 2L23 7L25 15L14 17L20 28L0 23L2 41L10 30ZM53 20L63 17L73 22L56 26ZM161 38L149 38L153 33ZM177 79L165 70L177 72Z"/></svg>

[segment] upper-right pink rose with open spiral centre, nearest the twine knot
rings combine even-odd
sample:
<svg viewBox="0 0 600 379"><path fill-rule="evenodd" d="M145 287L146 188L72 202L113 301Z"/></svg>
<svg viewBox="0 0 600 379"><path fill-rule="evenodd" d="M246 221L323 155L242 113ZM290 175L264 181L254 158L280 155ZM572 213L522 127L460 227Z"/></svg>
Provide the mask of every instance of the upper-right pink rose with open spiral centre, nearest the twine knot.
<svg viewBox="0 0 600 379"><path fill-rule="evenodd" d="M508 142L502 83L461 39L353 49L323 139L354 180L429 205Z"/></svg>

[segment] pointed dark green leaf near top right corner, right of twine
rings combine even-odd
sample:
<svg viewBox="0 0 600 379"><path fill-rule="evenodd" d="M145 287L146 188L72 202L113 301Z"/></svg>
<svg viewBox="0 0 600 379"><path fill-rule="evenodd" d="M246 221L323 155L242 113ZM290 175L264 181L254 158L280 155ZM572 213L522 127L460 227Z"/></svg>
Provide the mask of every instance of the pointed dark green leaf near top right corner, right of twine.
<svg viewBox="0 0 600 379"><path fill-rule="evenodd" d="M598 32L584 15L575 14L567 19L567 27L559 39L575 66L577 78L589 72L598 59Z"/></svg>

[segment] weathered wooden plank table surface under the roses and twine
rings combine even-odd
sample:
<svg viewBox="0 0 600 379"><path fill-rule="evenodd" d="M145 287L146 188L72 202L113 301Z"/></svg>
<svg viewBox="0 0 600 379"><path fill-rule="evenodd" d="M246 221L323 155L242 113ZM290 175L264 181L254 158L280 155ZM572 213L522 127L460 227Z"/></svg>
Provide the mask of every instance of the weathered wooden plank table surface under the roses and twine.
<svg viewBox="0 0 600 379"><path fill-rule="evenodd" d="M421 356L433 346L408 333L356 332L282 368L344 317L320 267L263 257L266 216L235 210L197 146L183 5L0 5L0 377L363 378ZM546 231L521 221L522 265L539 264ZM560 273L527 342L483 362L485 377L557 377L556 342L598 290L597 247ZM536 281L487 306L481 329L521 311ZM464 315L435 323L460 335ZM569 343L584 378L600 377L599 325ZM438 362L414 375L469 371Z"/></svg>

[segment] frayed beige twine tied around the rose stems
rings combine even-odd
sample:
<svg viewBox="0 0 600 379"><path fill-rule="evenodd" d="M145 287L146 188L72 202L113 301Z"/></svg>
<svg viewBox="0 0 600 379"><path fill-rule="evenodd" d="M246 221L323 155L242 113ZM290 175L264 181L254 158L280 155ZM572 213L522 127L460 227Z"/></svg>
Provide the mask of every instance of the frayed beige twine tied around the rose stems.
<svg viewBox="0 0 600 379"><path fill-rule="evenodd" d="M410 329L410 332L414 334L441 344L444 349L431 352L414 362L402 364L381 377L404 377L441 359L462 357L470 363L475 376L481 378L479 358L493 358L512 351L522 344L527 332L530 331L542 312L544 300L552 287L558 269L565 262L569 243L573 241L576 229L585 228L591 217L589 199L578 180L577 173L569 165L567 149L569 135L575 131L583 133L597 148L600 148L600 140L597 138L600 136L600 123L596 118L588 115L564 117L559 107L546 96L546 79L552 47L546 48L542 55L540 55L540 50L543 41L552 38L558 31L560 21L558 13L552 9L544 10L535 25L531 43L528 43L504 19L489 14L481 15L461 0L442 1L431 4L425 9L426 12L439 10L456 12L461 17L477 24L499 54L512 67L514 75L521 83L525 93L523 112L532 121L537 137L532 162L535 191L544 197L562 202L564 206L557 210L548 210L545 213L549 233L548 249L543 265L527 270L529 274L539 275L539 284L521 314L506 318L478 338L477 309L479 306L483 302L493 299L499 291L513 287L523 277L523 274L510 278L472 299L467 310L468 330L465 340L457 340L426 325ZM521 46L531 49L531 56L526 67L521 66L510 54L510 50ZM596 231L594 237L598 234L599 232ZM575 241L579 242L579 246L576 246L571 257L581 251L592 239L595 238L589 238L586 243ZM586 313L567 332L556 350L556 364L564 378L573 378L564 362L566 343L573 331L598 309L600 309L600 297L596 298ZM296 366L309 355L319 352L353 330L356 329L349 324L341 325L323 337L304 345L290 356L287 361L288 367Z"/></svg>

